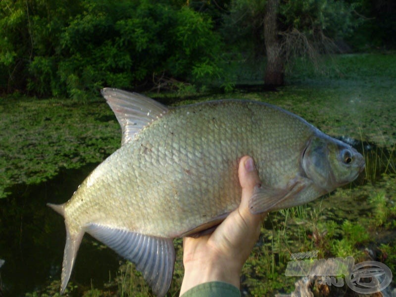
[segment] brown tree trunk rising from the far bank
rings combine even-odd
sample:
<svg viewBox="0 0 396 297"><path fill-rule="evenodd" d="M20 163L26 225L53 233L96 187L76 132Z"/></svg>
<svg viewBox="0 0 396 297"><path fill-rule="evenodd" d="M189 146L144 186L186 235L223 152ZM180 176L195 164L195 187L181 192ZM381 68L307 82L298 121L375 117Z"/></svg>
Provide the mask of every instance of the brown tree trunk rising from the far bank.
<svg viewBox="0 0 396 297"><path fill-rule="evenodd" d="M282 41L278 36L277 13L279 0L267 0L264 16L264 41L267 52L264 85L277 87L284 84L285 62Z"/></svg>

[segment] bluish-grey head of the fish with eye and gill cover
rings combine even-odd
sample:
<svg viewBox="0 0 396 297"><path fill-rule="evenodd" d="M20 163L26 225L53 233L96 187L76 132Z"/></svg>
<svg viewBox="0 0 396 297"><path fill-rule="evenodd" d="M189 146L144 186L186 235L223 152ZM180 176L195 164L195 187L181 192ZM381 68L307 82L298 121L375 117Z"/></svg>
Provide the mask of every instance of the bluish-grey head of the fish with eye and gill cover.
<svg viewBox="0 0 396 297"><path fill-rule="evenodd" d="M348 144L327 135L313 136L302 155L306 176L323 193L346 185L365 167L364 157Z"/></svg>

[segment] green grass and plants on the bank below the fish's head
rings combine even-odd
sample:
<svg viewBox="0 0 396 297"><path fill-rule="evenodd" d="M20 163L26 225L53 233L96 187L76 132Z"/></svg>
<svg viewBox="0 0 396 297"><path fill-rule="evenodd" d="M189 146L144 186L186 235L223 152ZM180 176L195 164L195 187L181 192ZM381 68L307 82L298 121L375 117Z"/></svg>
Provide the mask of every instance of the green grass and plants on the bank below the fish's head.
<svg viewBox="0 0 396 297"><path fill-rule="evenodd" d="M337 201L337 197L334 195L308 205L270 213L265 221L266 228L262 230L259 247L253 249L244 268L243 286L247 287L249 295L272 296L275 293L292 292L298 278L284 277L284 273L290 255L295 252L319 249L318 258L353 256L355 263L375 260L389 265L391 269L395 267L395 185L392 181L382 181L380 184L378 187L385 192L378 194L373 193L375 188L371 184L354 189L356 201L364 197L363 193L370 193L368 210L364 211L368 216L351 215L348 209L335 213L337 207L334 201ZM348 189L337 192L343 197L350 195ZM385 199L384 193L392 198ZM393 209L392 213L384 213L385 208ZM384 240L387 244L382 243ZM380 251L377 257L370 255L372 250L374 253ZM280 288L280 284L283 287Z"/></svg>

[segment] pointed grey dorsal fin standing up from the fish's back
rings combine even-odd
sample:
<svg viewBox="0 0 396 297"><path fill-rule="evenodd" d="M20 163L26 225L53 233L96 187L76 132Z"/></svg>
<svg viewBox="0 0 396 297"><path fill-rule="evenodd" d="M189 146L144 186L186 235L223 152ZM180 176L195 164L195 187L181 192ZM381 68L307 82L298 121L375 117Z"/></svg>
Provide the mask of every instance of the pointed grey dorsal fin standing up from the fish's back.
<svg viewBox="0 0 396 297"><path fill-rule="evenodd" d="M122 130L121 146L152 121L163 116L168 108L146 96L118 89L104 88L101 94L113 110Z"/></svg>

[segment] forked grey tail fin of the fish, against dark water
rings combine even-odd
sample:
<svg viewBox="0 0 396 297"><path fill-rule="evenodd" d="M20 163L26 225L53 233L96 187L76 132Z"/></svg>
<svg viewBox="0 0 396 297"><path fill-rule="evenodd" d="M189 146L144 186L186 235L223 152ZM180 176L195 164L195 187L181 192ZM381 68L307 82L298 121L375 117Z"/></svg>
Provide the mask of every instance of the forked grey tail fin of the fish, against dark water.
<svg viewBox="0 0 396 297"><path fill-rule="evenodd" d="M47 203L49 207L55 210L57 213L65 216L65 204L52 204ZM67 283L69 282L71 271L76 259L78 248L80 247L81 240L83 239L84 230L79 226L70 226L70 223L65 219L66 226L66 245L63 253L63 264L62 264L62 275L61 275L61 287L60 294L62 295L65 290Z"/></svg>

